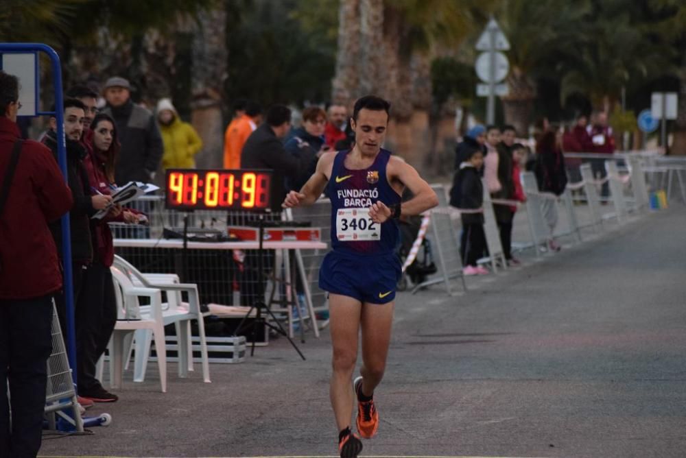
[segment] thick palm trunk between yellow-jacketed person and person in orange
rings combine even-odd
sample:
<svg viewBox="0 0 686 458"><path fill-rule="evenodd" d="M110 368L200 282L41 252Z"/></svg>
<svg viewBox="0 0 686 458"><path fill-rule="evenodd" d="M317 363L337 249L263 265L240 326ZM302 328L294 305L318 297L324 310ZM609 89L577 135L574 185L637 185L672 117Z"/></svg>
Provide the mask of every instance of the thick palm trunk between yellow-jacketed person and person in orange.
<svg viewBox="0 0 686 458"><path fill-rule="evenodd" d="M204 146L196 156L200 167L221 167L224 151L224 79L226 78L226 10L218 5L199 14L193 40L193 103L191 122Z"/></svg>

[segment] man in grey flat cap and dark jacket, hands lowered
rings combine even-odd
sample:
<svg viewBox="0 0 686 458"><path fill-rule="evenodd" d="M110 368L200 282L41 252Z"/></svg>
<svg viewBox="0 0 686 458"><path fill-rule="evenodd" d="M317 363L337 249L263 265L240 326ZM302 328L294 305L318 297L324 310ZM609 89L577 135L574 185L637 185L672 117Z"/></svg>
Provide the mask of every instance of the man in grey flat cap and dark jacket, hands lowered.
<svg viewBox="0 0 686 458"><path fill-rule="evenodd" d="M117 124L121 152L115 169L115 182L123 186L130 181L150 182L164 152L155 117L131 100L131 85L126 78L115 76L105 82L104 113Z"/></svg>

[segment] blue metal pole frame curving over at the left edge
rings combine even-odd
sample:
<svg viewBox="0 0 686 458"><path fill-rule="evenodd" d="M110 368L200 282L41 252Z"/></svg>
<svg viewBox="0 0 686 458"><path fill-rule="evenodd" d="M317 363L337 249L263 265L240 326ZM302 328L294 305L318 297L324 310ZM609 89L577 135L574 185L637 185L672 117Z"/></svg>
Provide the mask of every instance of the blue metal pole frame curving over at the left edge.
<svg viewBox="0 0 686 458"><path fill-rule="evenodd" d="M50 58L53 85L55 88L55 112L41 113L54 115L57 120L57 156L64 175L64 182L69 184L67 175L67 145L64 140L64 100L62 98L62 66L58 53L43 43L0 43L0 52L36 52L43 51ZM38 80L36 80L38 84ZM38 104L38 98L36 98ZM38 111L38 110L36 110ZM62 216L62 264L64 265L64 303L67 309L67 355L71 376L76 384L76 333L74 324L74 290L71 268L71 229L69 213Z"/></svg>

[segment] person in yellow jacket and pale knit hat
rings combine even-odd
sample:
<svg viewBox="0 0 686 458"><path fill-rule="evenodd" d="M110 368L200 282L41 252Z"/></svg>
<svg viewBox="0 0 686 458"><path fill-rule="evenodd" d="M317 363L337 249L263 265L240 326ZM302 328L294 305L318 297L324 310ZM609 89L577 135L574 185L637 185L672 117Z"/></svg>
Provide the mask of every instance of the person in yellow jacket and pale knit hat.
<svg viewBox="0 0 686 458"><path fill-rule="evenodd" d="M171 99L160 99L157 103L157 121L160 125L165 154L162 168L193 169L195 156L202 149L202 140L193 126L181 121Z"/></svg>

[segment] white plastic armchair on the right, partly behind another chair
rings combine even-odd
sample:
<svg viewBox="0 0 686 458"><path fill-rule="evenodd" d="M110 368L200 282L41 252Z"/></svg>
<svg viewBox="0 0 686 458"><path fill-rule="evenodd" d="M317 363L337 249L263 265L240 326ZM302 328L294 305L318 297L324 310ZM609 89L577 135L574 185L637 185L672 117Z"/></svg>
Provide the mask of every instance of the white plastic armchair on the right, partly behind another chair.
<svg viewBox="0 0 686 458"><path fill-rule="evenodd" d="M200 311L198 286L192 283L178 283L178 276L174 274L143 274L126 259L115 255L114 264L126 272L135 284L143 287L159 289L167 295L167 302L162 304L162 315L165 326L176 325L178 339L178 376L185 378L188 371L193 370L193 346L191 344L190 324L192 320L198 322L200 337L200 357L202 359L202 377L205 383L211 383L209 373L209 359L207 356L207 341L205 337L204 315ZM186 293L188 302L183 302L182 294ZM145 313L145 306L141 308ZM147 360L150 357L150 343L152 341L149 330L141 330L136 335L136 357L134 359L134 381L145 379ZM157 352L158 357L160 352Z"/></svg>

